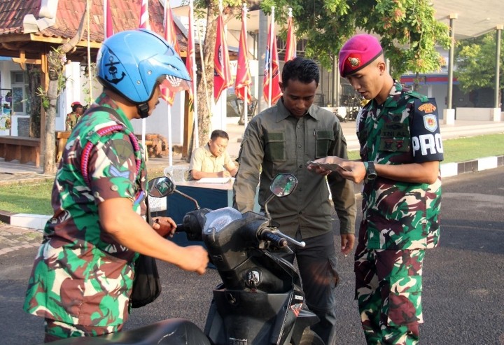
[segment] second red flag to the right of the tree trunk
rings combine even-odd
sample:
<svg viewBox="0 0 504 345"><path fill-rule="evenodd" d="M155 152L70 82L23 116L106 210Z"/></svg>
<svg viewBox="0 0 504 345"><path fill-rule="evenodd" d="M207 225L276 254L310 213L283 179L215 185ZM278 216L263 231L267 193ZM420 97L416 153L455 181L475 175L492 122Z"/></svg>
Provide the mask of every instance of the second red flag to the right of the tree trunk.
<svg viewBox="0 0 504 345"><path fill-rule="evenodd" d="M235 82L235 94L242 101L245 100L245 90L247 94L247 104L251 102L250 85L252 77L248 68L248 46L246 41L246 10L241 11L241 32L238 49L237 78Z"/></svg>

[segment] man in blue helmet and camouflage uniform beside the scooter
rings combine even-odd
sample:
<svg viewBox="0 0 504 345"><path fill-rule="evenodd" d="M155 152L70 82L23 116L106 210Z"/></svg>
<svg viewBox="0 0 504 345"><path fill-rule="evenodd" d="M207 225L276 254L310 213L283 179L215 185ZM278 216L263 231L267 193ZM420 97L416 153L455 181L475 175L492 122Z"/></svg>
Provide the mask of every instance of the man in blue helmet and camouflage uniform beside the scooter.
<svg viewBox="0 0 504 345"><path fill-rule="evenodd" d="M165 237L176 224L146 223L144 148L131 120L151 115L162 87L183 90L181 58L157 34L123 31L99 50L104 92L67 141L52 190L54 214L44 229L24 309L45 318L45 342L118 332L130 312L139 253L204 274L202 246Z"/></svg>

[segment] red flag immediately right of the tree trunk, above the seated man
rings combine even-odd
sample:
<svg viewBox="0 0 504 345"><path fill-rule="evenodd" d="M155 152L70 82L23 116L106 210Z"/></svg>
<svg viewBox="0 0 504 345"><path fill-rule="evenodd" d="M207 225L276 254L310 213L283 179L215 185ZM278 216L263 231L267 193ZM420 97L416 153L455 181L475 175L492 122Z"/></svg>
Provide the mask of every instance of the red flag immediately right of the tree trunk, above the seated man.
<svg viewBox="0 0 504 345"><path fill-rule="evenodd" d="M217 18L217 38L214 56L214 101L221 97L223 90L232 85L228 43L225 40L222 13Z"/></svg>

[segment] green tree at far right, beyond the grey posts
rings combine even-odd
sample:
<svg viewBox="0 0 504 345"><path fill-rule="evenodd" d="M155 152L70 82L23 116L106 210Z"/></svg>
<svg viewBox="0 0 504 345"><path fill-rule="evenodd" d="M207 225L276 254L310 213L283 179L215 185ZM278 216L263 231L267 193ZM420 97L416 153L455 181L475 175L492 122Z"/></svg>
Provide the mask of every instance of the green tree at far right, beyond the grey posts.
<svg viewBox="0 0 504 345"><path fill-rule="evenodd" d="M504 46L501 39L500 46ZM456 48L457 69L455 76L465 92L481 87L495 87L496 35L486 34L458 43ZM504 70L504 54L500 52L500 71ZM500 78L500 90L504 89L504 78Z"/></svg>

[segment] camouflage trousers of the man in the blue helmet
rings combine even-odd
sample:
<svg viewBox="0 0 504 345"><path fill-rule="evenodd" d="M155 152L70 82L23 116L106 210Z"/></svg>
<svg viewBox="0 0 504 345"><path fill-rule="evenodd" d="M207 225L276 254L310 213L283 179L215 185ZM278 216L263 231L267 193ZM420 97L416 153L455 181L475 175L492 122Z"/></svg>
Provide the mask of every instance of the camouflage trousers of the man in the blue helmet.
<svg viewBox="0 0 504 345"><path fill-rule="evenodd" d="M66 339L71 337L97 337L98 335L106 335L109 333L119 332L123 329L123 324L95 327L85 325L72 325L71 323L64 323L55 321L50 318L45 318L45 338L44 342L55 342L59 339Z"/></svg>

